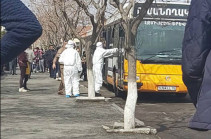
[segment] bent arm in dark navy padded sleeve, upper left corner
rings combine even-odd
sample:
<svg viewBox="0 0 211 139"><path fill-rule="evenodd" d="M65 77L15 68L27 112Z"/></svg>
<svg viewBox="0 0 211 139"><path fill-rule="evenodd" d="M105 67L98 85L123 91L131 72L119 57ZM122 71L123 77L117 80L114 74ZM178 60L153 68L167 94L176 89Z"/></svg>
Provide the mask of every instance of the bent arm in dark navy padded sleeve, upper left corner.
<svg viewBox="0 0 211 139"><path fill-rule="evenodd" d="M1 38L1 65L17 57L42 34L37 18L20 0L1 0L1 26L7 31Z"/></svg>

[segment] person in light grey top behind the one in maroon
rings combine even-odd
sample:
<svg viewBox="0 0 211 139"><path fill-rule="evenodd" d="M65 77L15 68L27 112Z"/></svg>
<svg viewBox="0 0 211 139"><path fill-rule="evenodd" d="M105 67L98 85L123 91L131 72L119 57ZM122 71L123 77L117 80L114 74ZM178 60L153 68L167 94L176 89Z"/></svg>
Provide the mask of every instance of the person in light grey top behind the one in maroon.
<svg viewBox="0 0 211 139"><path fill-rule="evenodd" d="M35 55L34 55L34 51L32 50L32 46L30 46L29 48L27 48L25 50L25 52L27 53L27 59L29 62L29 68L30 68L30 73L29 73L29 79L31 78L31 72L33 71L33 60L35 59Z"/></svg>

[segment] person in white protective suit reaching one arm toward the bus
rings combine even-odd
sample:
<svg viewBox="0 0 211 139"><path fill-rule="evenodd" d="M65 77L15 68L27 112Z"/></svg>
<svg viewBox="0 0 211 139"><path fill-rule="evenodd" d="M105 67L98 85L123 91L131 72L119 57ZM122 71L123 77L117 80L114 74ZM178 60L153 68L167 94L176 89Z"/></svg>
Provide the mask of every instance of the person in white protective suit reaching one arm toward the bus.
<svg viewBox="0 0 211 139"><path fill-rule="evenodd" d="M95 81L95 92L99 93L100 87L103 84L102 69L103 69L104 58L113 56L115 53L118 52L118 49L117 48L104 49L102 42L98 42L96 46L97 47L94 52L92 62L93 62L93 73Z"/></svg>

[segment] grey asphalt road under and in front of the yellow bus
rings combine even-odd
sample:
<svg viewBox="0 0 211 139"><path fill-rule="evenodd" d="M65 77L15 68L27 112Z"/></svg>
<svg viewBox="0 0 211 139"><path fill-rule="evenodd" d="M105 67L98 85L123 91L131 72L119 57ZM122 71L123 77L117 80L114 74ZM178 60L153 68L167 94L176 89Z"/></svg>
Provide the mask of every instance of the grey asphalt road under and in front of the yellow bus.
<svg viewBox="0 0 211 139"><path fill-rule="evenodd" d="M105 89L106 90L106 89ZM105 91L103 93L111 93ZM124 108L126 96L113 98L112 101ZM195 131L187 128L195 108L189 95L178 98L172 94L139 94L136 118L145 125L158 130L163 139L211 139L211 131Z"/></svg>

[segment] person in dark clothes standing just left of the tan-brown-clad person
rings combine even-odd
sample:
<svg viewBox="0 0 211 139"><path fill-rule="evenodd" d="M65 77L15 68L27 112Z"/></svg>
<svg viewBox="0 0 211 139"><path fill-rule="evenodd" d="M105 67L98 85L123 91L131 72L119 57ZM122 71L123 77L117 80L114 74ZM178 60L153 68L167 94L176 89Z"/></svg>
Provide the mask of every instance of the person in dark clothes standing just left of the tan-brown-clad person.
<svg viewBox="0 0 211 139"><path fill-rule="evenodd" d="M50 78L56 79L56 70L52 68L53 59L56 55L56 51L53 48L53 45L49 46L49 49L45 52L44 57L46 58L46 62L49 68Z"/></svg>

